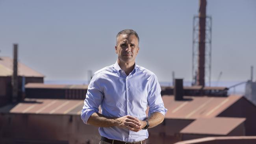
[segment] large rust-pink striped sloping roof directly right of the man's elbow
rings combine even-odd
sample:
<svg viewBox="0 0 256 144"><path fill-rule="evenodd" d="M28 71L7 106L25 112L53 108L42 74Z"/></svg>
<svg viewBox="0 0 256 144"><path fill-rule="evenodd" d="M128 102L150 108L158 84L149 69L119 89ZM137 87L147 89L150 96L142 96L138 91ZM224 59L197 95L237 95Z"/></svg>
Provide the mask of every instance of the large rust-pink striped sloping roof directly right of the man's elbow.
<svg viewBox="0 0 256 144"><path fill-rule="evenodd" d="M175 101L174 96L162 96L165 108L168 109L165 118L174 119L212 118L230 107L240 98L242 96L184 96L185 100Z"/></svg>

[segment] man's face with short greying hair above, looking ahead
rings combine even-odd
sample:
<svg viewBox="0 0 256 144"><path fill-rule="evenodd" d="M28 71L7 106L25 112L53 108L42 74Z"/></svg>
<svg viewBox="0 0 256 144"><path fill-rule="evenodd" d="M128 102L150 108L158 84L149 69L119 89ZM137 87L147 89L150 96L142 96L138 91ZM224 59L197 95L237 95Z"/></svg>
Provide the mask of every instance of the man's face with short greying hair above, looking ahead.
<svg viewBox="0 0 256 144"><path fill-rule="evenodd" d="M123 63L131 63L135 61L139 53L139 41L135 35L119 35L117 38L117 45L115 46L115 53Z"/></svg>

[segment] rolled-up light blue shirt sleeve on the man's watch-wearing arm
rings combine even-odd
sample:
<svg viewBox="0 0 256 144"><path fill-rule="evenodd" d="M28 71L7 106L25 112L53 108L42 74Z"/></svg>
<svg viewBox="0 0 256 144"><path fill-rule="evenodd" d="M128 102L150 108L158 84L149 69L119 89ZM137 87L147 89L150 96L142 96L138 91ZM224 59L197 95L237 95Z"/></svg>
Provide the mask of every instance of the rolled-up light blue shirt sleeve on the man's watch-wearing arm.
<svg viewBox="0 0 256 144"><path fill-rule="evenodd" d="M159 112L165 116L167 109L165 109L163 100L161 98L161 87L156 75L152 76L151 90L148 93L147 101L149 106L148 117L155 112Z"/></svg>

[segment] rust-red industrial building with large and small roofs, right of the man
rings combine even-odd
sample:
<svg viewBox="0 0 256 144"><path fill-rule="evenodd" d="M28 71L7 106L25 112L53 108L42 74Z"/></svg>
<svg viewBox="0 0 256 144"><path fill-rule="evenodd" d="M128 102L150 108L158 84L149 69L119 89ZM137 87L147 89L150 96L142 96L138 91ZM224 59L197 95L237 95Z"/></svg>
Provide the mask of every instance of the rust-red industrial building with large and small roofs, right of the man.
<svg viewBox="0 0 256 144"><path fill-rule="evenodd" d="M243 96L162 98L168 111L160 126L149 129L152 144L156 137L172 144L203 137L256 135L256 106Z"/></svg>

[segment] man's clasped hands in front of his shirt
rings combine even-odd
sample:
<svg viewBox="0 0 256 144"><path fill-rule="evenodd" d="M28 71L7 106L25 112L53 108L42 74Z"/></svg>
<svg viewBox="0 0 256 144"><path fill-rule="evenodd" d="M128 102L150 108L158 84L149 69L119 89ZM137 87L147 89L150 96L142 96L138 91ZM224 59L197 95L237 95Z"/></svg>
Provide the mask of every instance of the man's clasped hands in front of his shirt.
<svg viewBox="0 0 256 144"><path fill-rule="evenodd" d="M140 131L147 125L147 122L139 120L134 116L129 116L129 115L117 118L116 120L117 120L117 126L130 129L131 131L135 131L135 132Z"/></svg>

